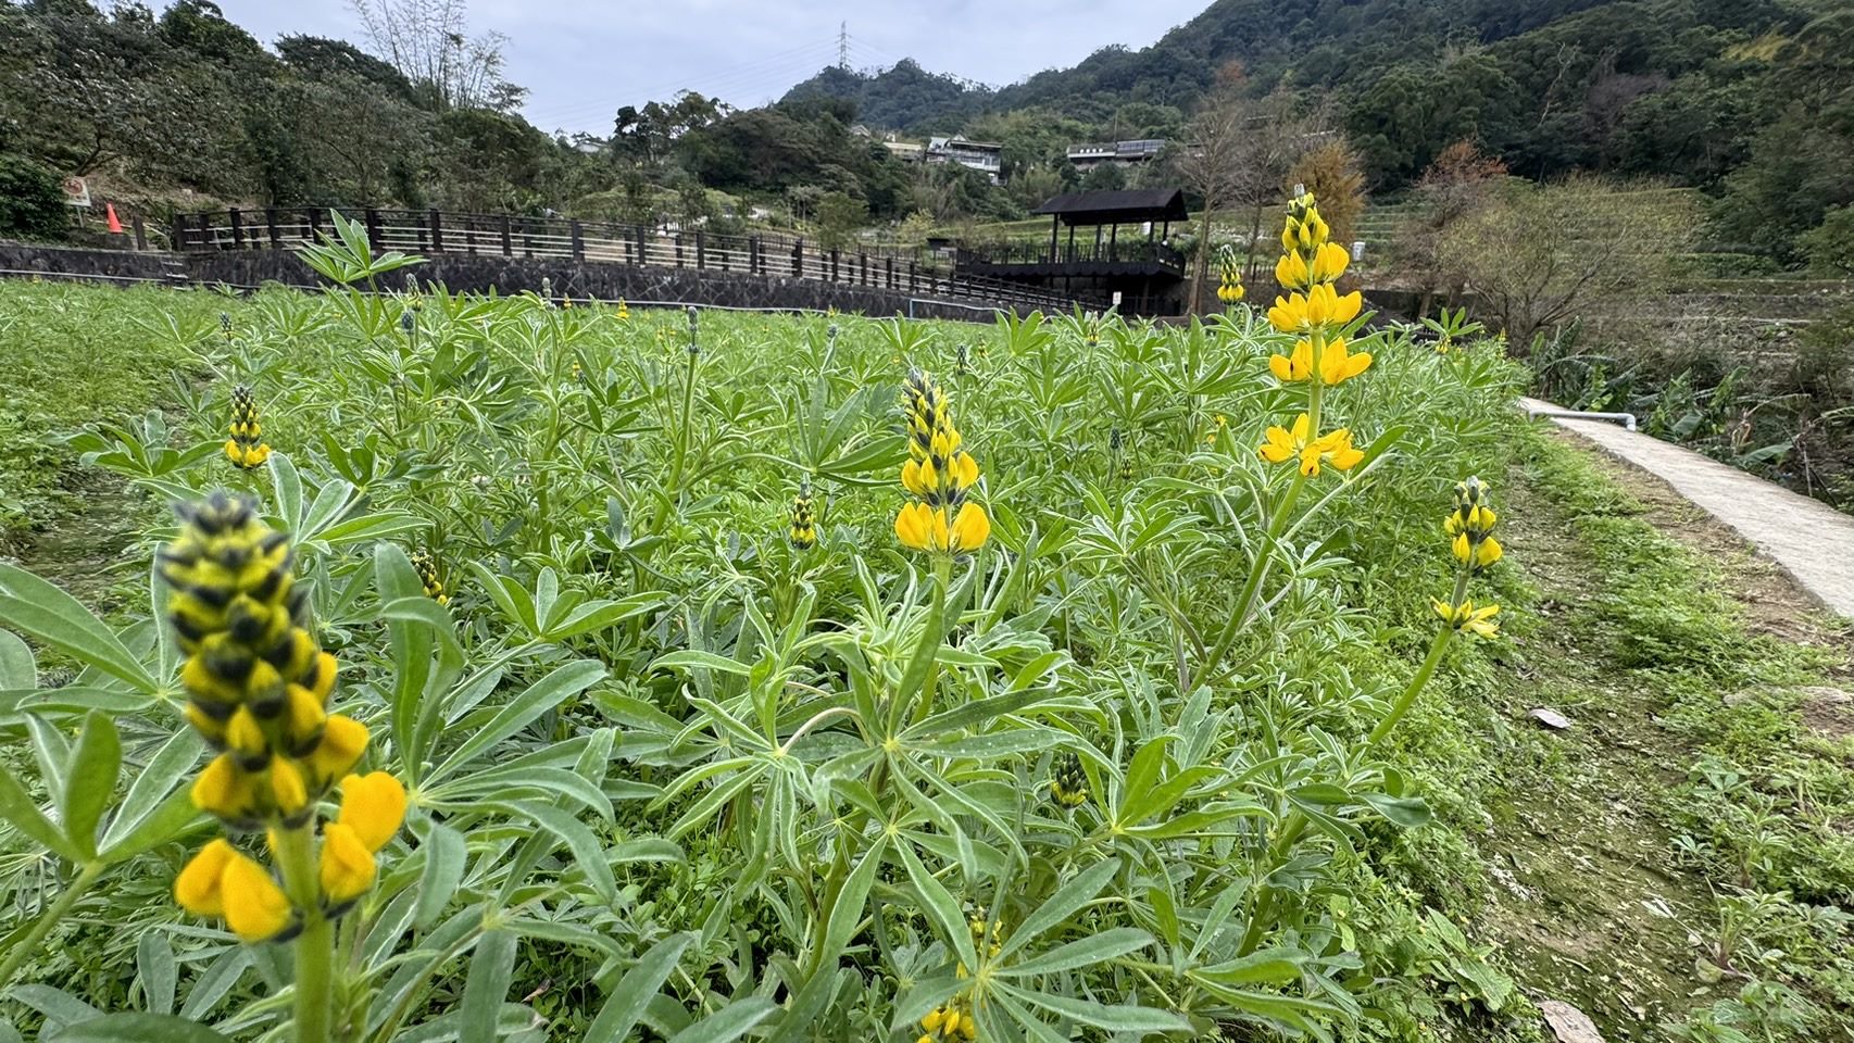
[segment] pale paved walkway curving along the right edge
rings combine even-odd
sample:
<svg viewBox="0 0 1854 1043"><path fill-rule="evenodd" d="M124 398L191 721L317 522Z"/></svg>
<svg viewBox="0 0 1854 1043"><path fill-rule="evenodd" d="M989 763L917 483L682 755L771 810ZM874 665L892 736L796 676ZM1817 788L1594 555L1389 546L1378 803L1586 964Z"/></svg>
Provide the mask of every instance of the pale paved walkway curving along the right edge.
<svg viewBox="0 0 1854 1043"><path fill-rule="evenodd" d="M1557 409L1537 398L1520 398L1520 408ZM1617 422L1550 421L1661 478L1776 561L1810 597L1854 619L1854 515Z"/></svg>

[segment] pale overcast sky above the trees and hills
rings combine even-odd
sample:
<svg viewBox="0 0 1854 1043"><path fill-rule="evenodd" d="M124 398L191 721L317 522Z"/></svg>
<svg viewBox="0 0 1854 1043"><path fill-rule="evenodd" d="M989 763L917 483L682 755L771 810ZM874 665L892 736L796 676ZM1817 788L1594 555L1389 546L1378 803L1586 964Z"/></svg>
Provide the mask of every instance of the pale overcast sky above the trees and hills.
<svg viewBox="0 0 1854 1043"><path fill-rule="evenodd" d="M677 91L732 106L775 100L836 63L912 57L931 72L1012 83L1073 65L1107 44L1133 48L1192 19L1209 0L475 0L473 31L508 35L508 78L528 89L541 130L610 133L612 113ZM219 0L265 44L286 33L367 46L347 0Z"/></svg>

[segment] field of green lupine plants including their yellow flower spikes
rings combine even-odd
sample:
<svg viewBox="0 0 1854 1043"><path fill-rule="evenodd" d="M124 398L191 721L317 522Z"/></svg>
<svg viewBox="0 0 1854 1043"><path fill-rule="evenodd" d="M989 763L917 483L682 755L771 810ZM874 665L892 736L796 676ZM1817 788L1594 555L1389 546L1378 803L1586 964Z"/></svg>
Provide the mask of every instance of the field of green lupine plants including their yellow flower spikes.
<svg viewBox="0 0 1854 1043"><path fill-rule="evenodd" d="M451 296L352 228L158 319L174 406L70 437L141 593L0 565L0 1039L1379 1037L1520 372L1281 243L1188 328Z"/></svg>

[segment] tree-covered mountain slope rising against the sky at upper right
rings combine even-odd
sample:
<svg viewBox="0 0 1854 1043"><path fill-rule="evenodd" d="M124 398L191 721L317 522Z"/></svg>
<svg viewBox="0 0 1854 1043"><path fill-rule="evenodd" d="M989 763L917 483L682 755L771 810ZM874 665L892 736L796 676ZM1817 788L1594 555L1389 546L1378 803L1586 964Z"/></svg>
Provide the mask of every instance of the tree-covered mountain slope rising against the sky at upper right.
<svg viewBox="0 0 1854 1043"><path fill-rule="evenodd" d="M996 91L903 63L831 69L788 98L849 98L864 122L916 133L1036 111L1131 137L1175 126L1240 63L1255 94L1329 96L1378 187L1459 139L1533 178L1609 169L1709 187L1746 156L1782 44L1837 17L1797 0L1216 0L1148 48Z"/></svg>

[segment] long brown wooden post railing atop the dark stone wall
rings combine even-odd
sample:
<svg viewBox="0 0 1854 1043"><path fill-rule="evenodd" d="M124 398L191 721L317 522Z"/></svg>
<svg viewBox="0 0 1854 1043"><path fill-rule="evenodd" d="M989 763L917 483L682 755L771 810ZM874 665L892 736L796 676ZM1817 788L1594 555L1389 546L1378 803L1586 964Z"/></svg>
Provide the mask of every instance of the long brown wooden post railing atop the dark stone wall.
<svg viewBox="0 0 1854 1043"><path fill-rule="evenodd" d="M1005 308L1068 311L1075 304L1105 308L1092 298L1044 293L1022 283L951 274L923 265L912 254L888 248L855 252L825 248L794 235L717 235L664 232L638 224L571 217L449 213L436 209L365 209L367 241L376 250L408 254L467 254L556 258L699 269L773 278L799 278L888 289L921 298L977 300ZM174 250L295 250L332 233L323 207L221 209L174 217Z"/></svg>

